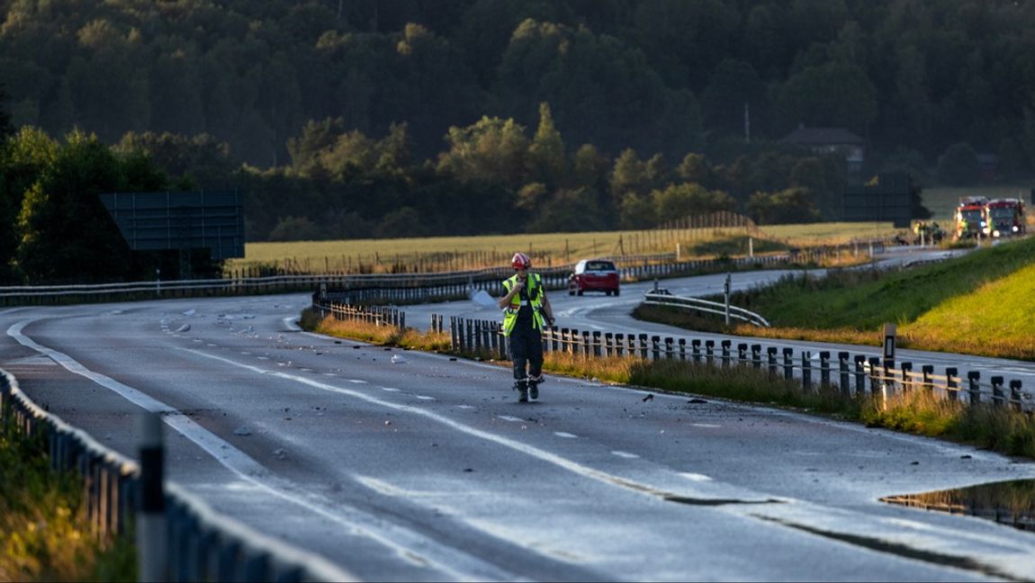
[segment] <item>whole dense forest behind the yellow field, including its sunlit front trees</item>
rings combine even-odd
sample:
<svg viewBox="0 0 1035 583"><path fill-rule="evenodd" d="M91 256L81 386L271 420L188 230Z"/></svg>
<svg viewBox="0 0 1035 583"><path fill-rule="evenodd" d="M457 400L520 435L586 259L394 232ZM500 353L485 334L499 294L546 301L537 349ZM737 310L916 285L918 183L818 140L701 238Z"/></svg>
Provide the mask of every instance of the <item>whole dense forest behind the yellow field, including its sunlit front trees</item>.
<svg viewBox="0 0 1035 583"><path fill-rule="evenodd" d="M239 188L252 240L832 220L883 171L1029 178L1033 24L1005 0L12 0L0 121L10 151L95 137L160 187ZM862 137L862 171L780 144L801 126ZM4 225L26 184L0 180Z"/></svg>

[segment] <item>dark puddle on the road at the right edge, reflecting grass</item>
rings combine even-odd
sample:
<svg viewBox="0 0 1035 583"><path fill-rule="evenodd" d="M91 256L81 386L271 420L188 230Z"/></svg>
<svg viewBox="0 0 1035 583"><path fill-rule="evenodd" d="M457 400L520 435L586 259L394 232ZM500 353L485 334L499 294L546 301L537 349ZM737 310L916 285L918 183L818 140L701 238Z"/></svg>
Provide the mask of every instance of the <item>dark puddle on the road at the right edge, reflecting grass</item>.
<svg viewBox="0 0 1035 583"><path fill-rule="evenodd" d="M1021 530L1035 531L1035 479L1011 479L954 490L887 496L881 501L974 516Z"/></svg>

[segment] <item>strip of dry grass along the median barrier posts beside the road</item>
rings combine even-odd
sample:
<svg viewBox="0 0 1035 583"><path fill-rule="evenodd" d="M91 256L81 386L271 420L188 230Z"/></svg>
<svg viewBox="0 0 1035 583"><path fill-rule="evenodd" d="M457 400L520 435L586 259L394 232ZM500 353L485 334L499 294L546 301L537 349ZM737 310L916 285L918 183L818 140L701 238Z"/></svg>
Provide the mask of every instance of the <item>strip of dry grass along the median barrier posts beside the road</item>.
<svg viewBox="0 0 1035 583"><path fill-rule="evenodd" d="M384 326L379 328L333 318L320 320L309 310L303 311L301 326L310 331L374 344L450 352L448 334L422 333L413 328L401 332ZM543 370L668 392L791 408L1035 459L1035 418L1031 414L989 405L964 406L936 400L921 391L895 396L882 403L868 396L842 396L835 386L806 393L801 390L798 381L773 377L764 368L722 368L685 360L653 361L630 356L590 358L548 352Z"/></svg>

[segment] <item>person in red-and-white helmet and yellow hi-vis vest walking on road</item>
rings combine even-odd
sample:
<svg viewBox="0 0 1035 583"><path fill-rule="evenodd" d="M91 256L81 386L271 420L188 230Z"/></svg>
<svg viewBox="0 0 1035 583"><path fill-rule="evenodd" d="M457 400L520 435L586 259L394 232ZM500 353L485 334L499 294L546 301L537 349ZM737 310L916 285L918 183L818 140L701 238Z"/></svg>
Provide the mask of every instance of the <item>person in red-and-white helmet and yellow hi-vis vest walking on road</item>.
<svg viewBox="0 0 1035 583"><path fill-rule="evenodd" d="M503 281L504 295L498 303L503 310L503 336L510 344L518 401L526 403L539 398L542 329L554 325L554 309L542 278L530 271L532 260L524 253L515 253L510 264L514 274Z"/></svg>

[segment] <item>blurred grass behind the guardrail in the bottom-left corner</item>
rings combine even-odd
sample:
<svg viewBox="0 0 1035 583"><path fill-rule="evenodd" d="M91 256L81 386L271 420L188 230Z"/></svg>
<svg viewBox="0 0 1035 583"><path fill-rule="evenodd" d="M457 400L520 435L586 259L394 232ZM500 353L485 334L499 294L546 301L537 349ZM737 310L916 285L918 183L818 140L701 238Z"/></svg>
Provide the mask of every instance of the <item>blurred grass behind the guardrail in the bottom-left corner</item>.
<svg viewBox="0 0 1035 583"><path fill-rule="evenodd" d="M51 470L39 439L0 429L0 581L136 581L128 536L100 542L83 485Z"/></svg>

